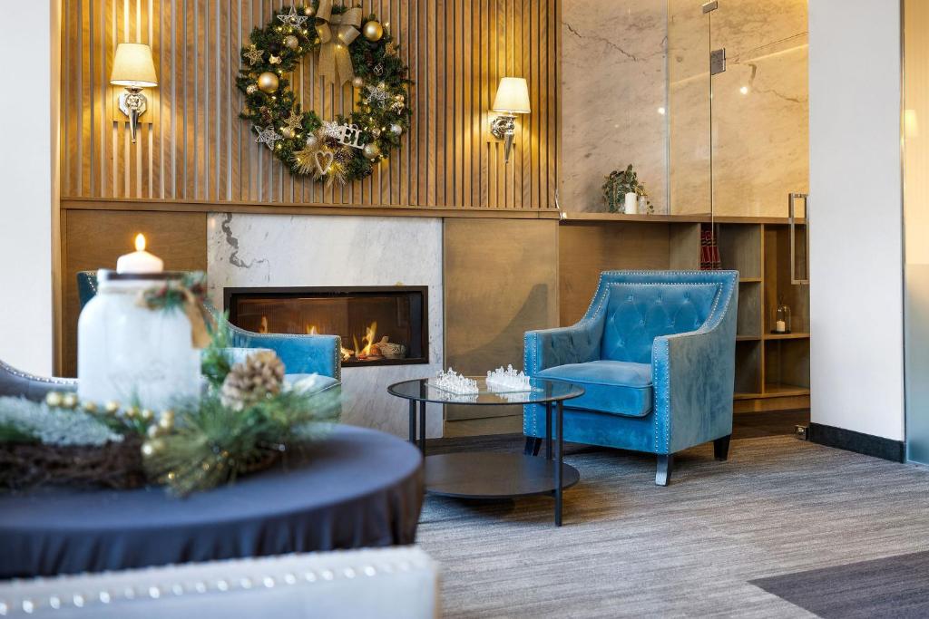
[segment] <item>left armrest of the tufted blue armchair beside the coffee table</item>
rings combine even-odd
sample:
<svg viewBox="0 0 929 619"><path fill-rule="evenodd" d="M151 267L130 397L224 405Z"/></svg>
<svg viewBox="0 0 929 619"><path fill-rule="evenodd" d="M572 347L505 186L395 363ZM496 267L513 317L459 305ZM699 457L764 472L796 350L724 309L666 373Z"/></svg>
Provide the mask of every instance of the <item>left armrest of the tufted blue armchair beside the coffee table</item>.
<svg viewBox="0 0 929 619"><path fill-rule="evenodd" d="M600 358L603 317L584 318L570 327L527 331L523 341L523 369L535 376L543 369Z"/></svg>

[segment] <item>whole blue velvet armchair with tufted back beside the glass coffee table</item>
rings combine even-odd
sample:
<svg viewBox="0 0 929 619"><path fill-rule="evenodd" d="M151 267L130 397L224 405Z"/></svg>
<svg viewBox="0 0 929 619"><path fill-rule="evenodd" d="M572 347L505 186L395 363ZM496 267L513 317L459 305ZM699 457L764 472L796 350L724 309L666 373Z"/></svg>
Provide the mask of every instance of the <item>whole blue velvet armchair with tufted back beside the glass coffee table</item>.
<svg viewBox="0 0 929 619"><path fill-rule="evenodd" d="M529 331L525 368L586 393L565 406L564 438L658 456L713 441L728 455L735 381L736 271L606 271L575 325ZM542 406L525 406L526 451L538 454Z"/></svg>

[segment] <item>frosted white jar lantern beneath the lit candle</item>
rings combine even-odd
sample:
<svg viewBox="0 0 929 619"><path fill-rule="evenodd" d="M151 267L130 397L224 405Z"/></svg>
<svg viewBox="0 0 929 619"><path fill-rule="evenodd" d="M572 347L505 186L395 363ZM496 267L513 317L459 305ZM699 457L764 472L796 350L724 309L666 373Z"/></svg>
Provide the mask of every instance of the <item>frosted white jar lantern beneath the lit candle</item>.
<svg viewBox="0 0 929 619"><path fill-rule="evenodd" d="M200 393L200 351L181 309L138 303L181 274L98 271L98 294L77 325L78 395L162 411Z"/></svg>

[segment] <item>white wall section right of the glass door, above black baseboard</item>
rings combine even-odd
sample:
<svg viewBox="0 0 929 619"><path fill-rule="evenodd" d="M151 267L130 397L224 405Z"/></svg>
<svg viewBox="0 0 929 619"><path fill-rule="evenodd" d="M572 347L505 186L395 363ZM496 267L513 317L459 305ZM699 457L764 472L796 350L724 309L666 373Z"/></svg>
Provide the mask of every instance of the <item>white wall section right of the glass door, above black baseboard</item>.
<svg viewBox="0 0 929 619"><path fill-rule="evenodd" d="M812 420L903 439L900 15L809 3Z"/></svg>

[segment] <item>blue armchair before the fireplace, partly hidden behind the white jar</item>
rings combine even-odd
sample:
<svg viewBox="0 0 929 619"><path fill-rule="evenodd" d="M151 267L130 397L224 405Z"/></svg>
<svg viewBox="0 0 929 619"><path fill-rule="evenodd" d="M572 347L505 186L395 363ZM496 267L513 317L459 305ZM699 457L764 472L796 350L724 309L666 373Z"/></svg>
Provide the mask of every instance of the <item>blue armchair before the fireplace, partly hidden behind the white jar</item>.
<svg viewBox="0 0 929 619"><path fill-rule="evenodd" d="M81 309L97 294L97 272L80 271L77 291ZM216 310L209 307L216 314ZM240 348L269 348L287 368L288 374L319 374L342 380L341 338L337 335L290 335L255 333L229 325L232 345Z"/></svg>

